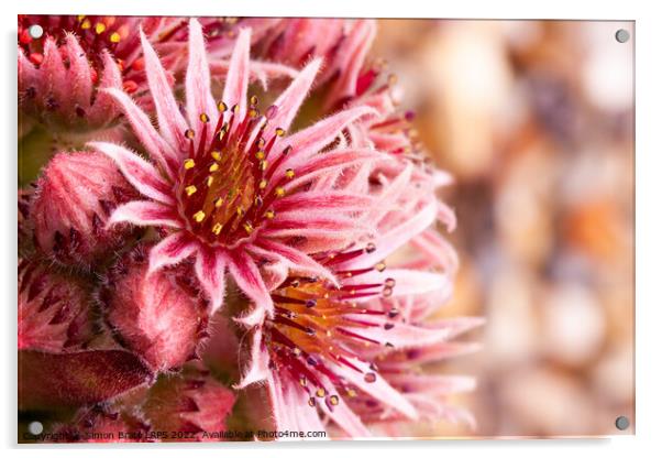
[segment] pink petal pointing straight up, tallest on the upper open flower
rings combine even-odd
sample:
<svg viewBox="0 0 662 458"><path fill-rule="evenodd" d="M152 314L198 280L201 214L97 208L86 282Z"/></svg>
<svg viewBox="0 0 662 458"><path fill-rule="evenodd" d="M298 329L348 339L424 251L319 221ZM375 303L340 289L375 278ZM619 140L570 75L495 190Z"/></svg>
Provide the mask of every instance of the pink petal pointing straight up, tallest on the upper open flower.
<svg viewBox="0 0 662 458"><path fill-rule="evenodd" d="M195 132L201 132L200 115L209 118L208 129L218 120L218 109L209 87L209 64L200 23L191 19L188 26L188 68L186 70L186 112ZM210 137L208 137L208 140Z"/></svg>

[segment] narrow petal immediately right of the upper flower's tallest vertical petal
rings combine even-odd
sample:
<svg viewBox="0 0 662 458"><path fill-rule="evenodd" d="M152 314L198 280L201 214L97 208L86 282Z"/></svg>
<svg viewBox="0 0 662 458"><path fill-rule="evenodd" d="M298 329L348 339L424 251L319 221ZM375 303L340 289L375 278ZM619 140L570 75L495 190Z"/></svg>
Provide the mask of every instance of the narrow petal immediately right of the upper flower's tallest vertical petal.
<svg viewBox="0 0 662 458"><path fill-rule="evenodd" d="M230 58L230 69L223 88L223 102L232 108L239 105L239 119L246 113L246 91L249 90L249 57L251 52L251 29L242 29Z"/></svg>

